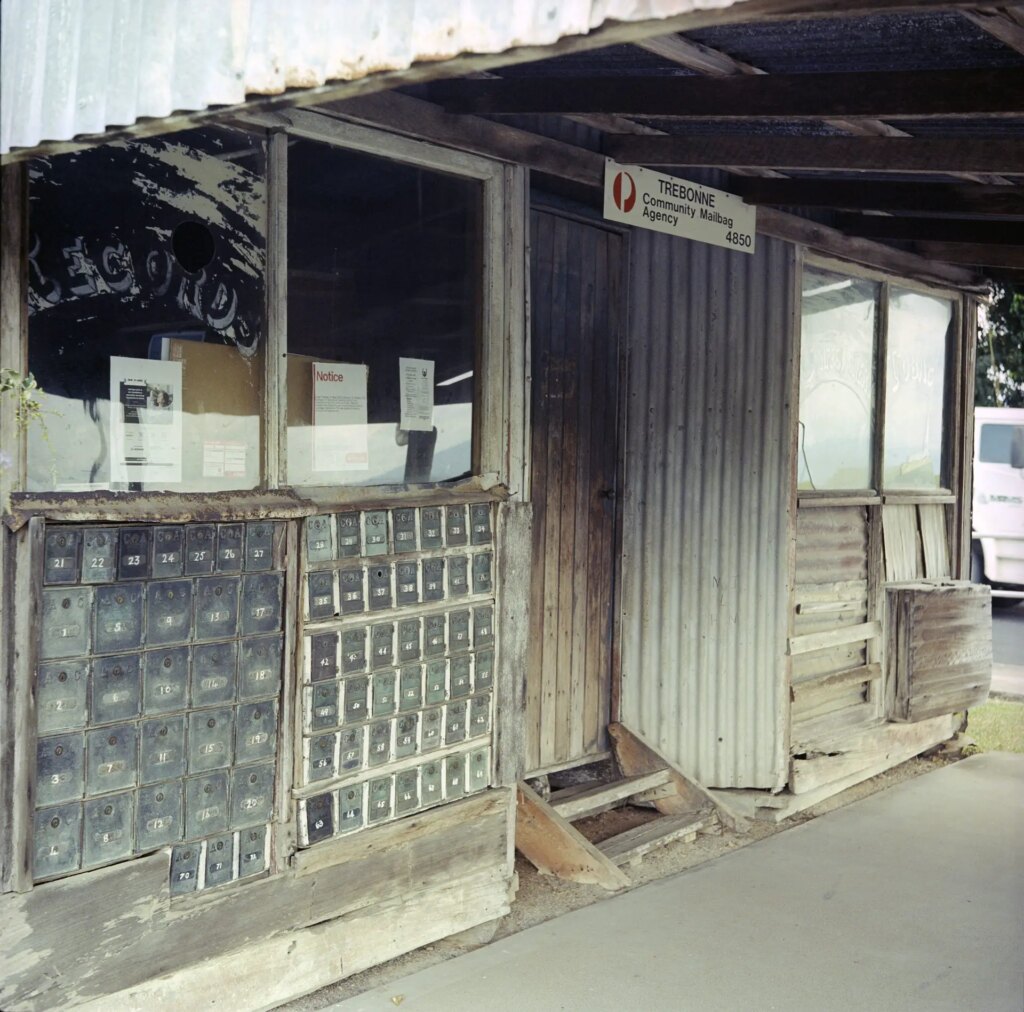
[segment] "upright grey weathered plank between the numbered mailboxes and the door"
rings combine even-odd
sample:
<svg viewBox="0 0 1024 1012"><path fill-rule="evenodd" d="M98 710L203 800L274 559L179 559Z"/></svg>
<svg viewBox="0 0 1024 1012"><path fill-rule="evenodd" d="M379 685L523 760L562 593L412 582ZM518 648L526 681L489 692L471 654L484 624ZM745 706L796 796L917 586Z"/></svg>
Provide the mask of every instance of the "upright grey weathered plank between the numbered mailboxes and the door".
<svg viewBox="0 0 1024 1012"><path fill-rule="evenodd" d="M495 691L495 778L513 787L526 766L526 683L530 639L530 567L534 506L509 502L498 508L498 670Z"/></svg>

